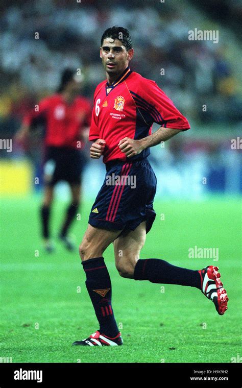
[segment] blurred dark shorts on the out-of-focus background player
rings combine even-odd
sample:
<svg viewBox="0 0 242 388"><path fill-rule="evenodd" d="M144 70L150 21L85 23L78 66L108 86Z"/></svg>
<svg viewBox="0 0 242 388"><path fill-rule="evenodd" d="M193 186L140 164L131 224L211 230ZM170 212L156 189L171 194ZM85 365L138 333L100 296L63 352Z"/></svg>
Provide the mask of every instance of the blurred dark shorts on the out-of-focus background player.
<svg viewBox="0 0 242 388"><path fill-rule="evenodd" d="M82 152L66 147L46 147L44 183L54 186L59 181L80 184L85 161Z"/></svg>

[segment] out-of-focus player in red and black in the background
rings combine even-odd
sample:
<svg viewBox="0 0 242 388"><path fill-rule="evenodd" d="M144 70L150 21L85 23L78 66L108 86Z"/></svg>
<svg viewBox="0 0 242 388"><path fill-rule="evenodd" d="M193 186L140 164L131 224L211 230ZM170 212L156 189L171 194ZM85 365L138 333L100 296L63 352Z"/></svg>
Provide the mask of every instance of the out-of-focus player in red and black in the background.
<svg viewBox="0 0 242 388"><path fill-rule="evenodd" d="M80 96L81 84L82 76L77 74L77 70L65 69L58 92L41 100L38 111L33 110L23 118L22 126L16 135L18 140L25 139L33 125L43 123L44 120L44 196L41 225L47 252L54 250L50 235L50 213L54 187L59 181L66 181L71 191L71 203L66 210L59 239L67 250L75 249L67 233L80 204L81 173L84 164L81 150L91 122L91 104L88 99Z"/></svg>

